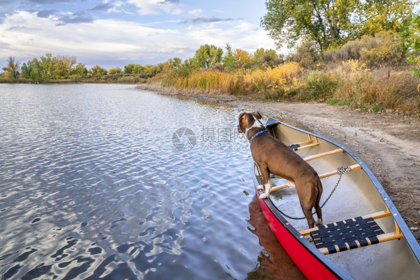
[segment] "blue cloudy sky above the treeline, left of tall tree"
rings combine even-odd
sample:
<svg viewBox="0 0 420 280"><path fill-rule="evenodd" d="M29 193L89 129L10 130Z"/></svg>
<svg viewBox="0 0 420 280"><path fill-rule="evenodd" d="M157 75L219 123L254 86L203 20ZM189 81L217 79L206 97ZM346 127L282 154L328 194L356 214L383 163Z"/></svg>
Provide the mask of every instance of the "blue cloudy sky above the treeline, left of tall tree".
<svg viewBox="0 0 420 280"><path fill-rule="evenodd" d="M0 0L0 69L9 56L75 56L87 69L186 60L204 44L275 49L264 0ZM287 53L279 49L278 53Z"/></svg>

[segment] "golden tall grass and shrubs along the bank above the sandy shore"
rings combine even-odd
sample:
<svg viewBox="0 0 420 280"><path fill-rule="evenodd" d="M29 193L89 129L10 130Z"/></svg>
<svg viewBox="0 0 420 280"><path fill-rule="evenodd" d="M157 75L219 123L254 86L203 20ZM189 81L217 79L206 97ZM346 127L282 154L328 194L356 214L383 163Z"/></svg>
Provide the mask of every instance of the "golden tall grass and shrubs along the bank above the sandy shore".
<svg viewBox="0 0 420 280"><path fill-rule="evenodd" d="M225 72L162 72L147 80L151 89L178 94L231 94L260 100L317 101L371 112L418 115L420 79L410 69L368 68L359 60L305 70L296 62L273 68Z"/></svg>

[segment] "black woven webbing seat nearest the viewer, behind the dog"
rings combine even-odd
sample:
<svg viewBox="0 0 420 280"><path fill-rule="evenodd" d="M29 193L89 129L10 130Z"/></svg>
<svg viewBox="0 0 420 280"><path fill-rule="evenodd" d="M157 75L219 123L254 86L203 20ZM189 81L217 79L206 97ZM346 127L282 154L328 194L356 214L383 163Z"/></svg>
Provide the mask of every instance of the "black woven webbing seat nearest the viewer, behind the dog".
<svg viewBox="0 0 420 280"><path fill-rule="evenodd" d="M316 248L327 248L329 254L379 243L382 229L372 218L357 217L318 226L311 232Z"/></svg>

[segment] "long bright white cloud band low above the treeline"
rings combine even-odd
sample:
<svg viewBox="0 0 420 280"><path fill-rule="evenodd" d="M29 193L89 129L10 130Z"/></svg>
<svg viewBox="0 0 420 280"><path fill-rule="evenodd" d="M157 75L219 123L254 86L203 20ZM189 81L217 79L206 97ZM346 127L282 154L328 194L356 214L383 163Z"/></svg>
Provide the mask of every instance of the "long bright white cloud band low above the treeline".
<svg viewBox="0 0 420 280"><path fill-rule="evenodd" d="M157 64L174 57L185 60L206 43L224 48L229 42L233 49L251 53L260 47L274 48L264 30L246 22L200 27L174 24L170 29L106 19L59 26L56 23L37 17L36 12L20 11L8 16L0 25L0 58L12 55L26 62L52 53L76 56L88 67L100 64L109 68L130 63L126 57L140 64Z"/></svg>

